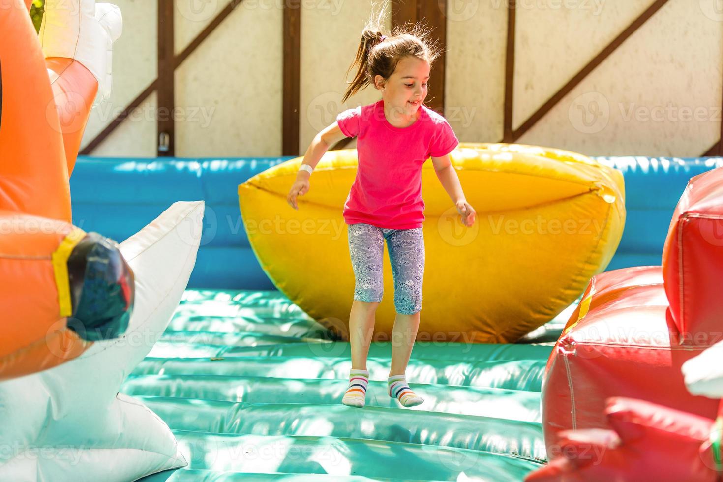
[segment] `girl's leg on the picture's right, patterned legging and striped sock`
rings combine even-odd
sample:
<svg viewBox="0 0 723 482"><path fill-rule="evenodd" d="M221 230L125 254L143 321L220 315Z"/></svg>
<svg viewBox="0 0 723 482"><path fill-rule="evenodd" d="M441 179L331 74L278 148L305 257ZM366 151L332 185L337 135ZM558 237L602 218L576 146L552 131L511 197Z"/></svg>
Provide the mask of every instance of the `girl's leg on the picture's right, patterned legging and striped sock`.
<svg viewBox="0 0 723 482"><path fill-rule="evenodd" d="M389 371L389 395L402 405L413 407L424 400L406 383L414 340L419 330L424 279L424 236L422 228L395 230L387 238L389 259L394 275L394 306L397 315L392 331L392 363Z"/></svg>

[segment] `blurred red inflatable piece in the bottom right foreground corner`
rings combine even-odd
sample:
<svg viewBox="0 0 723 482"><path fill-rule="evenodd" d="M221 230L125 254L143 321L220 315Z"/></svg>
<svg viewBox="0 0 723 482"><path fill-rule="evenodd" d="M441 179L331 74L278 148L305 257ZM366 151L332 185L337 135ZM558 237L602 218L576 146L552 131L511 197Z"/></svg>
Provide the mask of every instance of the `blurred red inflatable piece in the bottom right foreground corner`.
<svg viewBox="0 0 723 482"><path fill-rule="evenodd" d="M526 482L719 481L710 418L628 398L607 401L613 430L560 434L560 455ZM720 456L720 454L719 454Z"/></svg>

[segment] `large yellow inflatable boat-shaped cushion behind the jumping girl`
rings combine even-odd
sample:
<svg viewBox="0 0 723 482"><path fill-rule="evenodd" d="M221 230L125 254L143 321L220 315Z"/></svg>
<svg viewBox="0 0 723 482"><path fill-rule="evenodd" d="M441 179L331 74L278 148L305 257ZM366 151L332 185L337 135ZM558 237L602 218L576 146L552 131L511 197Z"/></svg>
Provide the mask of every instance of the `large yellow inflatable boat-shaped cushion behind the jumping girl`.
<svg viewBox="0 0 723 482"><path fill-rule="evenodd" d="M574 152L529 145L462 143L450 159L477 220L471 228L461 224L431 161L424 163L417 340L514 342L559 314L609 263L625 224L623 176ZM278 289L348 339L354 272L342 210L356 150L325 153L297 211L286 195L302 160L241 184L241 215ZM390 340L395 317L386 247L383 272L375 340Z"/></svg>

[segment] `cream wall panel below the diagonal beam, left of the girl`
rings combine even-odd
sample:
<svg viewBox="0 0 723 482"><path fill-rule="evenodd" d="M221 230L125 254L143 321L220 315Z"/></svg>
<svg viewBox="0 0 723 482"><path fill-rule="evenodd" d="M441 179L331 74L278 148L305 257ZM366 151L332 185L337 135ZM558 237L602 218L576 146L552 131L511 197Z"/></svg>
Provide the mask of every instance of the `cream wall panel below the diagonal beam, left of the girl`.
<svg viewBox="0 0 723 482"><path fill-rule="evenodd" d="M283 9L277 4L244 0L176 69L183 118L176 122L177 156L281 154ZM199 24L189 23L193 33ZM179 42L194 35L184 33Z"/></svg>

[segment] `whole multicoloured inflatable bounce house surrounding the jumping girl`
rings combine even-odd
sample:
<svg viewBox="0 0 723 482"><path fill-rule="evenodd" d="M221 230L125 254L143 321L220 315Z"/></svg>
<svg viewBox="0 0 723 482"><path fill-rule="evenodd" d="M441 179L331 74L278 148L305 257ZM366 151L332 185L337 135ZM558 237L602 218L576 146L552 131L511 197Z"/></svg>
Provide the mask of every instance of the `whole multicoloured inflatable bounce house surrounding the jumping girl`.
<svg viewBox="0 0 723 482"><path fill-rule="evenodd" d="M120 9L0 5L1 481L720 480L723 160L462 143L471 227L424 163L424 403L385 296L353 408L356 150L299 210L295 156L78 158Z"/></svg>

